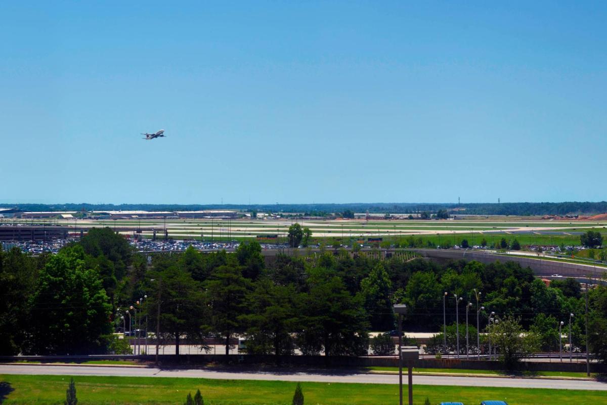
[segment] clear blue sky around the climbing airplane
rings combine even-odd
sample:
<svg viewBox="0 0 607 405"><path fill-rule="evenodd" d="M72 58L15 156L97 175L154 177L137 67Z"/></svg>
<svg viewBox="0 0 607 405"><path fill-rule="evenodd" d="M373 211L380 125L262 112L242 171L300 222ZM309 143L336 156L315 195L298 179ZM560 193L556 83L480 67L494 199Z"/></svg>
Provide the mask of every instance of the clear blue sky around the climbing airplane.
<svg viewBox="0 0 607 405"><path fill-rule="evenodd" d="M0 202L605 200L605 2L0 16Z"/></svg>

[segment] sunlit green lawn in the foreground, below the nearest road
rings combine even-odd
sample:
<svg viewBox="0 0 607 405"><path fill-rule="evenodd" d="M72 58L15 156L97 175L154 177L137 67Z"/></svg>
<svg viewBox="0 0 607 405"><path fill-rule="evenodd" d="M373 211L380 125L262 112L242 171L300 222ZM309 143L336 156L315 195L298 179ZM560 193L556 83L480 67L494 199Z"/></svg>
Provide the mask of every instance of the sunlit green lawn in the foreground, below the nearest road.
<svg viewBox="0 0 607 405"><path fill-rule="evenodd" d="M0 375L0 401L4 404L61 404L69 376ZM203 394L206 404L290 404L296 383L199 378L76 376L78 404L181 404L188 392ZM302 383L308 404L394 404L396 384ZM406 390L405 390L406 395ZM494 387L413 387L413 401L422 404L503 400L510 405L607 403L607 392L588 390L518 389Z"/></svg>

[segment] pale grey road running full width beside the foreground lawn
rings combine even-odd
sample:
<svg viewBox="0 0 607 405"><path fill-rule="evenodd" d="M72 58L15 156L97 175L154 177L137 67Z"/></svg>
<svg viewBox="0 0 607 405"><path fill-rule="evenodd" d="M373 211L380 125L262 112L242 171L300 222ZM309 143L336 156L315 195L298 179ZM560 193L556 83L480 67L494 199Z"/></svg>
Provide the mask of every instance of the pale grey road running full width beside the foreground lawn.
<svg viewBox="0 0 607 405"><path fill-rule="evenodd" d="M158 369L155 367L92 367L52 365L0 365L0 374L46 375L98 375L132 377L191 377L212 379L262 379L279 381L315 381L319 383L398 384L398 375L344 372L343 370L297 371L293 369L271 371L238 371L234 369ZM406 376L403 378L406 383ZM413 375L413 384L434 386L514 387L607 390L607 383L598 381L540 378L497 378Z"/></svg>

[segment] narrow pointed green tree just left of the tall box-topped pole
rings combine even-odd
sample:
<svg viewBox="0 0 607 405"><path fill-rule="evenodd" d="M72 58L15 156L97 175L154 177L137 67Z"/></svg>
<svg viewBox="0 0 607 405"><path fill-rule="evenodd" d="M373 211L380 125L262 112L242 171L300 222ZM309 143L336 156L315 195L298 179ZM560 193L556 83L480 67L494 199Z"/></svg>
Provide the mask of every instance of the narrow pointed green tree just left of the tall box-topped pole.
<svg viewBox="0 0 607 405"><path fill-rule="evenodd" d="M376 264L361 281L361 294L373 330L390 330L394 326L392 313L392 282L381 263Z"/></svg>

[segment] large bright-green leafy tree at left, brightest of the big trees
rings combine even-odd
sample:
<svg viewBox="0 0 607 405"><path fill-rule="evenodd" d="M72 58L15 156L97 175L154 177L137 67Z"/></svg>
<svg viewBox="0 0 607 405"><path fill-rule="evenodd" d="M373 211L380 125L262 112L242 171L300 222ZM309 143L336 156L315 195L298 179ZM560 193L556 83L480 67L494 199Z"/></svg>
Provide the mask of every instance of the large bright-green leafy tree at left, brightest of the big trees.
<svg viewBox="0 0 607 405"><path fill-rule="evenodd" d="M86 268L80 246L66 247L40 271L31 298L29 352L95 353L111 332L111 305L97 270Z"/></svg>

